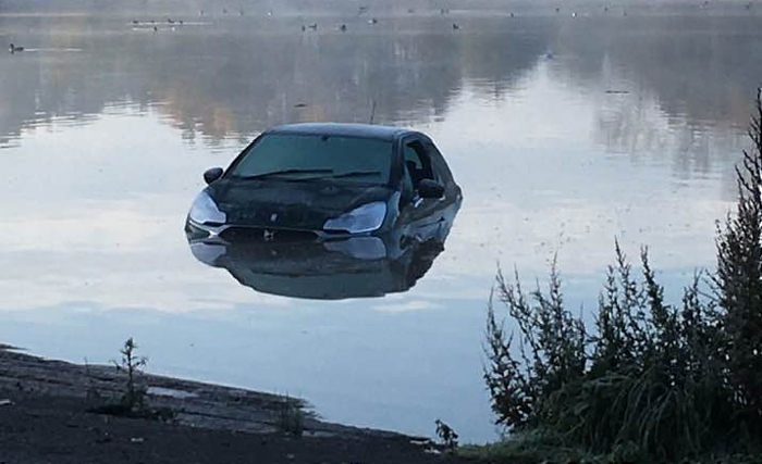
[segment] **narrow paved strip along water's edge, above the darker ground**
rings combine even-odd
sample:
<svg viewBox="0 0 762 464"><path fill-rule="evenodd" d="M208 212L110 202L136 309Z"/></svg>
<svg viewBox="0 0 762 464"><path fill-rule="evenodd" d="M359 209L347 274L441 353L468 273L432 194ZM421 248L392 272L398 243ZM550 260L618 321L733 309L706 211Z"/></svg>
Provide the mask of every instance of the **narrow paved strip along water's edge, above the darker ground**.
<svg viewBox="0 0 762 464"><path fill-rule="evenodd" d="M126 373L121 371L108 364L46 359L29 354L23 348L0 343L0 390L15 388L20 393L81 399L88 406L96 406L124 393ZM136 380L146 386L148 403L152 407L174 411L175 421L181 425L272 434L278 431L275 424L280 406L292 401L305 412L305 436L409 437L392 430L321 421L310 403L302 398L155 375L142 369Z"/></svg>

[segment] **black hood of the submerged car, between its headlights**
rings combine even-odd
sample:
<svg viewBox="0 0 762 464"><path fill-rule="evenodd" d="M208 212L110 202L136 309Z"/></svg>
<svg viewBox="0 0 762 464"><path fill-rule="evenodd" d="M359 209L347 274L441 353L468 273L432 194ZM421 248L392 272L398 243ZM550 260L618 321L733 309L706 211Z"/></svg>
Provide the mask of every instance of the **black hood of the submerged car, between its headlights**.
<svg viewBox="0 0 762 464"><path fill-rule="evenodd" d="M322 229L327 220L393 193L382 186L282 179L222 179L207 192L228 224L307 230Z"/></svg>

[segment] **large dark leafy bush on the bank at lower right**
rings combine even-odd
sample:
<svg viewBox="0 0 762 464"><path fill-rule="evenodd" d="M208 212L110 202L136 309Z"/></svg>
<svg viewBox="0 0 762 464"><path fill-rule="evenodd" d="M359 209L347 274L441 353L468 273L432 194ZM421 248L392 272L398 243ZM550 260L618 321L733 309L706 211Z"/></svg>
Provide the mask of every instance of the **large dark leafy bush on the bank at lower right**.
<svg viewBox="0 0 762 464"><path fill-rule="evenodd" d="M564 308L555 262L548 289L528 294L517 272L511 280L497 272L484 380L508 448L521 448L517 437L552 437L556 450L643 462L761 448L761 97L754 150L737 170L737 211L717 226L716 273L697 273L680 303L664 301L646 248L638 273L618 242L594 327ZM497 319L495 296L516 333Z"/></svg>

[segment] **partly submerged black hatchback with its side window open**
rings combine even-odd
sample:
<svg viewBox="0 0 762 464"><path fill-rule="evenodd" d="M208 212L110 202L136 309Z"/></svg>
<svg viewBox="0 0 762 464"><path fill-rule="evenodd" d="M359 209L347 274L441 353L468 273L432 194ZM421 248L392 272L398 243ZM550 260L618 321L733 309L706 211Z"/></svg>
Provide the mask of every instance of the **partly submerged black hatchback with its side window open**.
<svg viewBox="0 0 762 464"><path fill-rule="evenodd" d="M190 240L426 241L463 200L431 138L372 124L273 127L204 179L185 222Z"/></svg>

